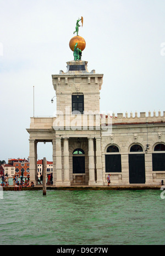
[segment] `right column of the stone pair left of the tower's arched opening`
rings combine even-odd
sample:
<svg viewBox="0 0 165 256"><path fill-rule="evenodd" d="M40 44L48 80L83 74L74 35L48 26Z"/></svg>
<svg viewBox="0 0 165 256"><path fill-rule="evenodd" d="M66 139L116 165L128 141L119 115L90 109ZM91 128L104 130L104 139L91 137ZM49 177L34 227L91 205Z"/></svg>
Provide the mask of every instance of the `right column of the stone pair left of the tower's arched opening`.
<svg viewBox="0 0 165 256"><path fill-rule="evenodd" d="M64 186L70 186L69 179L69 138L64 138Z"/></svg>

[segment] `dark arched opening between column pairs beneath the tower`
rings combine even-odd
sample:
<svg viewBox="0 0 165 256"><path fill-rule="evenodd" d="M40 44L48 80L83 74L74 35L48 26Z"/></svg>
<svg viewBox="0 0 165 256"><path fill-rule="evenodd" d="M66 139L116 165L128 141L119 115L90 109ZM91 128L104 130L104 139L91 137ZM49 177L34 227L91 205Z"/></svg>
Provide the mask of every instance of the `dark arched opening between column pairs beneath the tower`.
<svg viewBox="0 0 165 256"><path fill-rule="evenodd" d="M85 152L83 149L73 151L73 173L85 173Z"/></svg>

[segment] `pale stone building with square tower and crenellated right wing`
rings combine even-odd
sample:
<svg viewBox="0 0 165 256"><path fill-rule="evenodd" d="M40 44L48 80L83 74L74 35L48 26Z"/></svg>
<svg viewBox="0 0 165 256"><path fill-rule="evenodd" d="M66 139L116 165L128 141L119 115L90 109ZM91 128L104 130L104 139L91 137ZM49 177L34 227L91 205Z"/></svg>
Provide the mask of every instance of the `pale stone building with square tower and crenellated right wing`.
<svg viewBox="0 0 165 256"><path fill-rule="evenodd" d="M161 184L165 181L165 111L100 113L103 74L87 62L67 62L67 72L52 75L57 115L31 117L30 179L36 183L37 144L53 144L53 185Z"/></svg>

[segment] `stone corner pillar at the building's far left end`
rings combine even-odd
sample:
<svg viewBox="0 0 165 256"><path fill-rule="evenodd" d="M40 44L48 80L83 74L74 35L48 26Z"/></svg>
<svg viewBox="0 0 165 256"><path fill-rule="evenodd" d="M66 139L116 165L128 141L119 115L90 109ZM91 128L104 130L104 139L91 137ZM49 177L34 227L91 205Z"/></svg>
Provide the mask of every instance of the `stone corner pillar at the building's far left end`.
<svg viewBox="0 0 165 256"><path fill-rule="evenodd" d="M37 184L37 142L29 139L30 181Z"/></svg>

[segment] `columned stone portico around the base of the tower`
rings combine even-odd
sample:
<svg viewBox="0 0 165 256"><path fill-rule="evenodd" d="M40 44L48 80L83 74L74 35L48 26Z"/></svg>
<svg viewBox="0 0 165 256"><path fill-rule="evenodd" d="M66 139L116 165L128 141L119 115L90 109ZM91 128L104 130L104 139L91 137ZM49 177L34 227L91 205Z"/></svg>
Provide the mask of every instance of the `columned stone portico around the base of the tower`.
<svg viewBox="0 0 165 256"><path fill-rule="evenodd" d="M38 118L32 119L38 126ZM40 121L44 121L44 119ZM43 122L41 122L42 125ZM42 139L40 136L41 130L27 129L27 131L30 133L30 180L35 184L37 178L37 144L46 141L52 142L54 186L70 186L71 184L103 185L100 131L67 130L62 132L50 128L45 130L45 137L42 133ZM50 135L49 138L47 134ZM82 150L83 153L77 154L77 149ZM82 171L78 168L78 164L80 160L83 160L83 157L84 170Z"/></svg>

